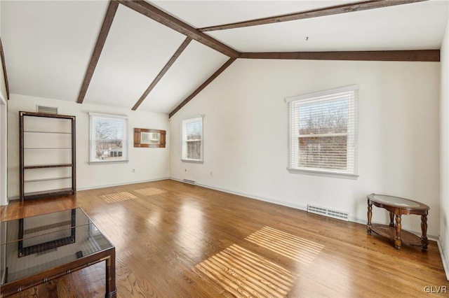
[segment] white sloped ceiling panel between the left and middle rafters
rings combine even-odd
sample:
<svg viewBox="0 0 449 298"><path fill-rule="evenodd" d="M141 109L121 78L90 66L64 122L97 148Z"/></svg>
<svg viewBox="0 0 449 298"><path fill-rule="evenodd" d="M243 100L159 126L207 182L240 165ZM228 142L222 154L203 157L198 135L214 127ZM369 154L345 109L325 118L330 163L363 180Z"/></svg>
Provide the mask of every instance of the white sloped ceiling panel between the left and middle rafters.
<svg viewBox="0 0 449 298"><path fill-rule="evenodd" d="M119 5L84 101L132 108L184 40Z"/></svg>

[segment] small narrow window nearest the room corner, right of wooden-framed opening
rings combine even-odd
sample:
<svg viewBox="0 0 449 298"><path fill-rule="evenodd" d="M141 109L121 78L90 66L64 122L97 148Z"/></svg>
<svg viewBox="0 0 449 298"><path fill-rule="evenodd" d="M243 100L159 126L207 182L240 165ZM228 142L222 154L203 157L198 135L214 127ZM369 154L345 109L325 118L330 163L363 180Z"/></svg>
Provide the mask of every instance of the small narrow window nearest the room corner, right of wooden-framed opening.
<svg viewBox="0 0 449 298"><path fill-rule="evenodd" d="M203 118L182 121L182 160L203 162Z"/></svg>

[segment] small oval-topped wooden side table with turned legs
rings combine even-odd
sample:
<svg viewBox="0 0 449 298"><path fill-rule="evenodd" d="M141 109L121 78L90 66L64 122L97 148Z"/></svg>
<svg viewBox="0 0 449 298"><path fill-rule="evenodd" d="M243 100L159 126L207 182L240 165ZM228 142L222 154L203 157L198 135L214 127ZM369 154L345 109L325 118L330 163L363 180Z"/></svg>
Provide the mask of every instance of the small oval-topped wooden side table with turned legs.
<svg viewBox="0 0 449 298"><path fill-rule="evenodd" d="M389 225L371 224L373 205L389 211ZM384 194L368 194L367 231L368 234L375 232L375 234L393 240L394 247L398 250L401 250L402 243L412 246L421 246L423 250L427 250L427 246L429 245L429 241L427 240L428 213L429 206L422 204L419 201L412 201L410 199L392 197ZM408 214L421 215L421 236L416 236L415 234L402 230L401 215ZM396 223L394 220L396 220Z"/></svg>

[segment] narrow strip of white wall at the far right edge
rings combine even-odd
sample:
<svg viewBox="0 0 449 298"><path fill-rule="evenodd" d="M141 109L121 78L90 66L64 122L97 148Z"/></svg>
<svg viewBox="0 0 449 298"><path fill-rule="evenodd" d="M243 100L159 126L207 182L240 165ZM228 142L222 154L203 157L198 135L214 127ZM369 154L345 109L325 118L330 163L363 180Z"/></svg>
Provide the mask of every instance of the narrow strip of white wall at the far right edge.
<svg viewBox="0 0 449 298"><path fill-rule="evenodd" d="M449 22L441 44L440 103L440 243L449 280Z"/></svg>

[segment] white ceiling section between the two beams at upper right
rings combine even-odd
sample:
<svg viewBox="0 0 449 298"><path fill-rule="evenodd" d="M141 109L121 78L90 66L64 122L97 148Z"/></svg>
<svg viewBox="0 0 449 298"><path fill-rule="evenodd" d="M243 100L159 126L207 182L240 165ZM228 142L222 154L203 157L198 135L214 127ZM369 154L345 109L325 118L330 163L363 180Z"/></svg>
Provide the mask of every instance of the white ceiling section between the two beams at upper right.
<svg viewBox="0 0 449 298"><path fill-rule="evenodd" d="M429 1L210 35L240 52L439 49L447 20L448 1Z"/></svg>

